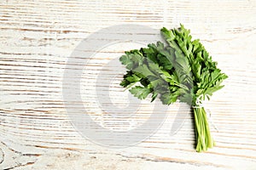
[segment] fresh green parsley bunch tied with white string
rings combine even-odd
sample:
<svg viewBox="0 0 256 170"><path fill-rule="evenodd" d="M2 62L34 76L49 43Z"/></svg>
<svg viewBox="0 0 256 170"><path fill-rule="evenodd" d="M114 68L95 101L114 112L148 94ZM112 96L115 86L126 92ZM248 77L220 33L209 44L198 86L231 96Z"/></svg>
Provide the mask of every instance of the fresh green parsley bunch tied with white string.
<svg viewBox="0 0 256 170"><path fill-rule="evenodd" d="M213 140L201 99L223 88L221 82L227 76L217 68L217 62L212 61L201 42L191 40L189 30L183 25L172 30L164 27L160 32L166 44L148 44L148 48L127 51L120 57L128 70L120 85L130 88L138 99L151 94L152 101L159 96L164 105L177 99L191 105L196 150L205 151L213 146Z"/></svg>

